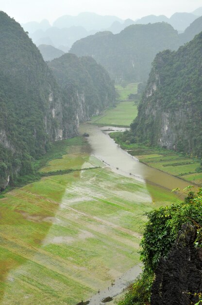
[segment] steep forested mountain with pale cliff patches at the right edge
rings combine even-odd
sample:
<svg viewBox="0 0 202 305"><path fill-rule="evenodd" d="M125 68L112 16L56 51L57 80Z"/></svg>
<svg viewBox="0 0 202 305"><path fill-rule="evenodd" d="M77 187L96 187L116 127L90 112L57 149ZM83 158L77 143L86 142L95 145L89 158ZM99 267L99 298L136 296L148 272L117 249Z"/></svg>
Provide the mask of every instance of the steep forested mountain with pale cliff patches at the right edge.
<svg viewBox="0 0 202 305"><path fill-rule="evenodd" d="M155 57L131 128L140 141L202 155L202 32Z"/></svg>

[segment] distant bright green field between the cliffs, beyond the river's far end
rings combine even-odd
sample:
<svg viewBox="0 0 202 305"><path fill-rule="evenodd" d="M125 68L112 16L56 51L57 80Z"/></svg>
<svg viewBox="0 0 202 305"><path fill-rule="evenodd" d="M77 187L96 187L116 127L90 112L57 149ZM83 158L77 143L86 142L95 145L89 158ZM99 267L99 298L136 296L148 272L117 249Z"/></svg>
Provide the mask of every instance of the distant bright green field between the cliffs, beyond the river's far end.
<svg viewBox="0 0 202 305"><path fill-rule="evenodd" d="M128 84L125 88L116 86L118 93L116 107L104 111L103 114L94 116L92 124L100 126L129 127L137 116L138 100L128 100L129 94L137 94L137 83Z"/></svg>

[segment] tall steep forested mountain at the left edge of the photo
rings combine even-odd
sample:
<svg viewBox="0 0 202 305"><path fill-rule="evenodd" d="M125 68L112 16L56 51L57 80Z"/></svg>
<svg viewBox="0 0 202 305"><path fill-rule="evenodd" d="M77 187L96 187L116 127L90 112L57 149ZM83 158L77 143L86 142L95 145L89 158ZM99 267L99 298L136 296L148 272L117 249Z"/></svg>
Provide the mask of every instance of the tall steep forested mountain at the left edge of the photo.
<svg viewBox="0 0 202 305"><path fill-rule="evenodd" d="M21 26L3 12L0 54L1 189L17 174L33 172L32 158L43 154L62 129L60 115L51 115L51 108L61 109L62 102L39 50ZM50 95L54 95L51 103Z"/></svg>

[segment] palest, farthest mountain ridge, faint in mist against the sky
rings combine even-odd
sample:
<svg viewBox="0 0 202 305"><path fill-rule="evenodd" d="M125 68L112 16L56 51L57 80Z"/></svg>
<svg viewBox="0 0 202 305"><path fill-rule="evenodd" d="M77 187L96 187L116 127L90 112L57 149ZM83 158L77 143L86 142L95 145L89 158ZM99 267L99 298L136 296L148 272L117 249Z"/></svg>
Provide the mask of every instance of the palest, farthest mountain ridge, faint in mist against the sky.
<svg viewBox="0 0 202 305"><path fill-rule="evenodd" d="M113 34L118 34L131 24L148 24L164 21L182 33L199 16L202 16L202 8L198 8L193 13L175 13L170 18L164 15L150 15L138 20L122 20L116 16L80 13L78 16L61 16L53 22L52 26L46 19L41 22L28 22L22 24L22 26L25 31L29 32L29 36L37 46L39 44L51 44L61 49L61 46L65 48L67 46L71 47L76 40L93 35L98 31L107 30Z"/></svg>

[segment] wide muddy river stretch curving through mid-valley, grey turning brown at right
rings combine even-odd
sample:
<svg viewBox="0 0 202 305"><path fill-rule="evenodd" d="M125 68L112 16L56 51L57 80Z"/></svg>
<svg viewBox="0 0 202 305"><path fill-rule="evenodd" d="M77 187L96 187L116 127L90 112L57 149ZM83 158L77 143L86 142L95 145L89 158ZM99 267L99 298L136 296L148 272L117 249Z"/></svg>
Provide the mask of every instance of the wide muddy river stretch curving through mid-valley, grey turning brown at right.
<svg viewBox="0 0 202 305"><path fill-rule="evenodd" d="M152 184L173 190L185 189L190 183L180 178L169 175L151 168L138 161L135 157L122 150L118 144L107 134L108 128L122 130L123 128L97 127L91 124L81 124L80 132L89 133L87 138L92 149L92 154L99 158L103 164L109 166L114 172L126 176L134 177L141 181L151 182ZM104 132L103 132L104 130Z"/></svg>

